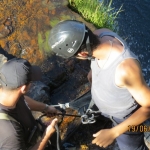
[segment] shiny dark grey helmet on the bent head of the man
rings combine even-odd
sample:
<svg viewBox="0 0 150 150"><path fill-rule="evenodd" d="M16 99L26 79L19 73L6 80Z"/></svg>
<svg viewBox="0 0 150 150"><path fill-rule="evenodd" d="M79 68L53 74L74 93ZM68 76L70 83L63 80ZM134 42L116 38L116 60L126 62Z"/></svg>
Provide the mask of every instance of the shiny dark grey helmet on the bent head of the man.
<svg viewBox="0 0 150 150"><path fill-rule="evenodd" d="M48 44L56 55L70 58L80 49L85 41L85 35L87 35L85 24L75 20L65 20L51 29ZM89 50L88 36L85 42L84 45Z"/></svg>

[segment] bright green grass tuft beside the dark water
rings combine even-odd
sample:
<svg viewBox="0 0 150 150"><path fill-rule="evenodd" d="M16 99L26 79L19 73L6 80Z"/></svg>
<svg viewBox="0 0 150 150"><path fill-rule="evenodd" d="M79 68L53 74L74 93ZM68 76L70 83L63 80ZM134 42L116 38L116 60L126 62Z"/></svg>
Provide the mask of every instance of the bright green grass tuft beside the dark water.
<svg viewBox="0 0 150 150"><path fill-rule="evenodd" d="M78 12L86 21L91 22L96 28L109 28L116 31L116 18L121 12L111 7L112 0L106 5L104 0L69 0L69 7Z"/></svg>

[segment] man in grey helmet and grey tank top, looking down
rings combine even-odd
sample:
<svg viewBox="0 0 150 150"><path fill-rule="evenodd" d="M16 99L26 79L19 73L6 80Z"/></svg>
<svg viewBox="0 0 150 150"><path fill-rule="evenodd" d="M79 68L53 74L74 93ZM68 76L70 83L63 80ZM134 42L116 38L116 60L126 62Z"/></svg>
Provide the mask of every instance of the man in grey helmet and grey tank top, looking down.
<svg viewBox="0 0 150 150"><path fill-rule="evenodd" d="M121 150L147 150L143 132L130 127L138 129L150 118L150 88L126 42L109 29L92 33L85 24L66 20L52 28L49 45L63 58L91 60L92 100L113 121L113 128L94 134L92 143L107 147L116 139Z"/></svg>

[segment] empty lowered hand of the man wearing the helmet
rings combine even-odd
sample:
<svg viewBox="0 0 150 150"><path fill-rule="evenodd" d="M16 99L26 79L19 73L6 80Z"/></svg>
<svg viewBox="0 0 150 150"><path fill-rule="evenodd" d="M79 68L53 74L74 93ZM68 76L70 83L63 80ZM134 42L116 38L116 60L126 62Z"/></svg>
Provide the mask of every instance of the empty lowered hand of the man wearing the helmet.
<svg viewBox="0 0 150 150"><path fill-rule="evenodd" d="M117 135L112 128L100 130L96 134L93 134L93 137L95 137L95 139L92 141L93 144L106 148L114 142Z"/></svg>

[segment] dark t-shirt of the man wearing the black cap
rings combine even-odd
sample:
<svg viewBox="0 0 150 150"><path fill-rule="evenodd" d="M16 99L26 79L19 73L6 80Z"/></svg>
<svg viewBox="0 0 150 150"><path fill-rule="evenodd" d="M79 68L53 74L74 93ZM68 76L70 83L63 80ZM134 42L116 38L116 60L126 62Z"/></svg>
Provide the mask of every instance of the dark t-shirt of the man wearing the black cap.
<svg viewBox="0 0 150 150"><path fill-rule="evenodd" d="M0 150L25 150L36 121L24 96L19 99L16 108L10 109L0 104L0 112L7 113L19 122L0 119Z"/></svg>

